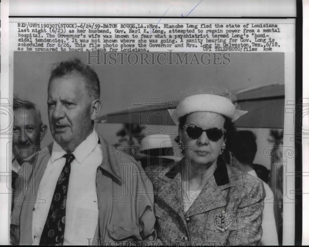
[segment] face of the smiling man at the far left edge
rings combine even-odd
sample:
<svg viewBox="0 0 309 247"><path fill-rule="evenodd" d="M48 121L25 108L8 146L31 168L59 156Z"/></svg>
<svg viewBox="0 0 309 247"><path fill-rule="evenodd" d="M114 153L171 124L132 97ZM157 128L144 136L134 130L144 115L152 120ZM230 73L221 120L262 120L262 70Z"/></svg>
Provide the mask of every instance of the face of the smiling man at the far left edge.
<svg viewBox="0 0 309 247"><path fill-rule="evenodd" d="M24 116L20 117L20 116ZM22 150L23 158L28 158L33 154L35 148L38 148L41 143L45 131L41 125L41 121L35 109L24 109L21 113L15 114L15 124L13 139L18 138L18 141L13 142L13 156L20 156Z"/></svg>

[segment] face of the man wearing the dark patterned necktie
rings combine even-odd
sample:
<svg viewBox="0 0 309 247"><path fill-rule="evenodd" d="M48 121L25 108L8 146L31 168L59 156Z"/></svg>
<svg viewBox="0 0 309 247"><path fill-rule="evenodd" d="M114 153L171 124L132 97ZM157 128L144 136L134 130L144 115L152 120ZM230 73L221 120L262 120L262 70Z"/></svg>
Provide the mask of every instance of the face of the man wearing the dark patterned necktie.
<svg viewBox="0 0 309 247"><path fill-rule="evenodd" d="M93 129L91 97L79 75L54 78L48 87L49 127L54 140L67 152L87 138Z"/></svg>

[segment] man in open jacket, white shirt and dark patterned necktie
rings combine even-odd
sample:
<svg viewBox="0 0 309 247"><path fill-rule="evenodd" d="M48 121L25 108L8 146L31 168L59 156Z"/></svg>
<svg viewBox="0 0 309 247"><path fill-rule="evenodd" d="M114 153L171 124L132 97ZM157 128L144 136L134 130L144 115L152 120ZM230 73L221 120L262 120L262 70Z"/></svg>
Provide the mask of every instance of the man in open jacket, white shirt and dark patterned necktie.
<svg viewBox="0 0 309 247"><path fill-rule="evenodd" d="M54 142L28 183L28 190L36 184L36 201L30 195L23 202L19 244L155 240L152 184L94 130L99 97L98 76L79 60L52 70L47 104Z"/></svg>

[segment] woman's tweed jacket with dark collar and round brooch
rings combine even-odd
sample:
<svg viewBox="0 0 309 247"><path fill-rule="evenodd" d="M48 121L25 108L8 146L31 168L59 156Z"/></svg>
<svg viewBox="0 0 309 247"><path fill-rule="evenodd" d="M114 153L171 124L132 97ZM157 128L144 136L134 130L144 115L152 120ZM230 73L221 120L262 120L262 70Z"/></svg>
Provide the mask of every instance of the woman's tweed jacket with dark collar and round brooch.
<svg viewBox="0 0 309 247"><path fill-rule="evenodd" d="M213 176L184 213L181 170L188 165L183 159L147 172L154 185L158 239L167 245L259 245L262 181L218 160Z"/></svg>

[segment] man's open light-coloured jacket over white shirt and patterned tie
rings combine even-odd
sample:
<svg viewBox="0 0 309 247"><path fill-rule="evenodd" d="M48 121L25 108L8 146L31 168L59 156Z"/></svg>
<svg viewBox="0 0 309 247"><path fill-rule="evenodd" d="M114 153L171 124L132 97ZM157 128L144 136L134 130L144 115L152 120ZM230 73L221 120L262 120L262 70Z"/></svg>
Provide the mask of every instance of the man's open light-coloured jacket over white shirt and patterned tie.
<svg viewBox="0 0 309 247"><path fill-rule="evenodd" d="M99 219L95 236L89 237L89 244L155 240L154 196L150 180L133 158L110 147L101 136L99 140L103 152L103 161L96 175ZM15 230L15 243L19 245L32 244L32 210L52 144L42 151L44 154L32 166L23 203L14 203L11 223L19 228Z"/></svg>

